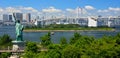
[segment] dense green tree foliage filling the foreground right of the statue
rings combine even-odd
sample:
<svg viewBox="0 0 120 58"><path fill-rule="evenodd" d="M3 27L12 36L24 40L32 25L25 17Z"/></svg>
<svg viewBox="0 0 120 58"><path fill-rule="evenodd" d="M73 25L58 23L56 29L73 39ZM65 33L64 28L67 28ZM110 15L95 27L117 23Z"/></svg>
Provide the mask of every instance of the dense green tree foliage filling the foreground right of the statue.
<svg viewBox="0 0 120 58"><path fill-rule="evenodd" d="M63 37L59 44L52 43L48 33L40 40L41 44L26 44L24 58L120 58L120 33L99 39L74 33L69 43ZM46 47L47 51L38 51L38 45Z"/></svg>

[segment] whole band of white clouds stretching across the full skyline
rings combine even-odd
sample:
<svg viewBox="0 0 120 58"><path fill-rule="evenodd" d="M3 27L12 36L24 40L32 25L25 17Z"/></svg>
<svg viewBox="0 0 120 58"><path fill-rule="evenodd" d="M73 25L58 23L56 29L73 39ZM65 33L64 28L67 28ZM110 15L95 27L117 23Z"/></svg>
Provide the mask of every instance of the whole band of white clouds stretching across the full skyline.
<svg viewBox="0 0 120 58"><path fill-rule="evenodd" d="M97 16L97 15L103 15L103 16L119 16L120 15L120 8L113 8L113 7L108 7L107 9L100 9L97 10L92 6L85 6L84 8L67 8L65 10L61 9L56 9L55 7L48 7L45 9L42 9L38 11L37 9L33 7L6 7L6 8L0 8L0 15L6 14L6 13L13 13L13 12L21 12L21 13L31 13L32 16L47 16L47 17L76 17L78 15L78 11L80 16L82 17L87 17L87 16ZM46 14L44 14L44 12Z"/></svg>

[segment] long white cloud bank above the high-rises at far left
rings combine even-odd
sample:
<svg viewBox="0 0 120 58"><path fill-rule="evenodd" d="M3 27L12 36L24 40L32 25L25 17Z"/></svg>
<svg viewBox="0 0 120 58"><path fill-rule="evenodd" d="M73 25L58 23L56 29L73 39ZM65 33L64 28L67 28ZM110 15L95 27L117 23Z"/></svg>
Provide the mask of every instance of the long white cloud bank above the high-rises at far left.
<svg viewBox="0 0 120 58"><path fill-rule="evenodd" d="M38 15L39 11L32 8L32 7L6 7L6 8L0 8L0 15L3 14L12 14L14 12L20 12L20 13L31 13L32 15ZM2 17L0 16L0 19Z"/></svg>

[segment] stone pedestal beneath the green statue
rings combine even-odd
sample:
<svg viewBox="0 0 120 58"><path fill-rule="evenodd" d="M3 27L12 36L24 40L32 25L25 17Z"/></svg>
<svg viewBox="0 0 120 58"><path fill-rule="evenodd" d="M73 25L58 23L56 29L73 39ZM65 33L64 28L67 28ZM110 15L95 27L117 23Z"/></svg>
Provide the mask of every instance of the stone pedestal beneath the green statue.
<svg viewBox="0 0 120 58"><path fill-rule="evenodd" d="M25 42L24 41L12 41L13 43L13 51L24 50Z"/></svg>

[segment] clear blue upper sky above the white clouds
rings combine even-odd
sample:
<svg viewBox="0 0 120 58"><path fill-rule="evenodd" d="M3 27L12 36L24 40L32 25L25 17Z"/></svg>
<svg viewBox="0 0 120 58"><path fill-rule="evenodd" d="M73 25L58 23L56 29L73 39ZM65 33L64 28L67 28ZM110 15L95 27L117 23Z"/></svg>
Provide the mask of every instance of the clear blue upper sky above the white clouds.
<svg viewBox="0 0 120 58"><path fill-rule="evenodd" d="M84 7L91 5L96 9L106 9L108 7L120 7L120 0L0 0L0 7L33 7L42 9L54 6L59 9Z"/></svg>

